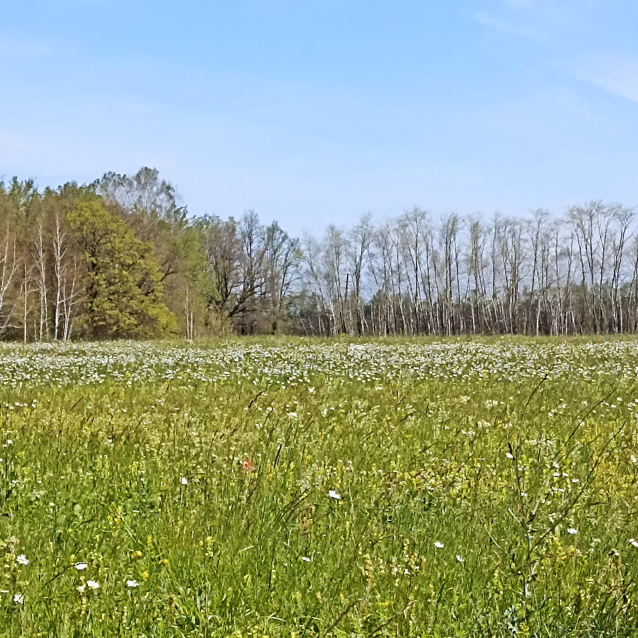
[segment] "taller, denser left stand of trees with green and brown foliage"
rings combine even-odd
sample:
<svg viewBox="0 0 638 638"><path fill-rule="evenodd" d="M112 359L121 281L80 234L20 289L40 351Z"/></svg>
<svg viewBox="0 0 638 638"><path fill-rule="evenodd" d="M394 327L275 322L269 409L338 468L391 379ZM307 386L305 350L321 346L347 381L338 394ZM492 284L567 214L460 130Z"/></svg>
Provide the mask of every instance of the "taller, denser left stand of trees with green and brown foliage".
<svg viewBox="0 0 638 638"><path fill-rule="evenodd" d="M27 341L293 329L298 242L255 213L188 218L158 172L40 193L0 183L0 337Z"/></svg>

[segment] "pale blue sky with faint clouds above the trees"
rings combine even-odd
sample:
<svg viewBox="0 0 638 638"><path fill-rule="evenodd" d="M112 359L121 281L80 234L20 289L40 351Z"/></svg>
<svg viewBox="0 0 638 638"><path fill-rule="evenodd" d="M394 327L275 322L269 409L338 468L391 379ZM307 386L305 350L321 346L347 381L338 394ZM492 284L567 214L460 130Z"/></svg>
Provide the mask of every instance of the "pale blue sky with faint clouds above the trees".
<svg viewBox="0 0 638 638"><path fill-rule="evenodd" d="M1 4L0 177L157 167L293 234L638 204L635 0Z"/></svg>

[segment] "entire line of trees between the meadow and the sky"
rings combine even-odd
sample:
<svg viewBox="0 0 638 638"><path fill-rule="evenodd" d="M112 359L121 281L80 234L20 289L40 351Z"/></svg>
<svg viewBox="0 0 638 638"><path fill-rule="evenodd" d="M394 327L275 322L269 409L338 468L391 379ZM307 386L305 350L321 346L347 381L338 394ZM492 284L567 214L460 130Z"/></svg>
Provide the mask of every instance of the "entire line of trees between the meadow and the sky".
<svg viewBox="0 0 638 638"><path fill-rule="evenodd" d="M634 209L487 220L415 208L289 237L193 218L142 168L38 191L0 182L0 338L608 334L638 329Z"/></svg>

